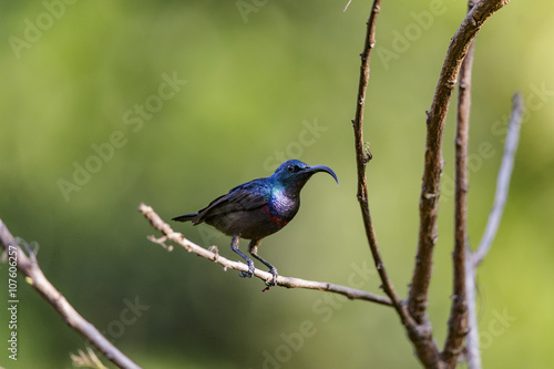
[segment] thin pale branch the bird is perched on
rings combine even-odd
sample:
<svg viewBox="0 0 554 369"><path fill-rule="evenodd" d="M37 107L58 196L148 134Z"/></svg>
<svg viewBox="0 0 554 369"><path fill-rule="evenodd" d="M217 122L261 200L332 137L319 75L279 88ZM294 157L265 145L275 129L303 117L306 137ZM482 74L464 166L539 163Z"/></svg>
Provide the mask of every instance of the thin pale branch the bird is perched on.
<svg viewBox="0 0 554 369"><path fill-rule="evenodd" d="M192 243L191 240L186 239L181 233L174 232L172 227L165 223L160 215L157 215L154 209L147 205L141 204L138 206L138 211L144 214L144 216L150 221L152 226L163 233L162 238L154 238L154 237L148 237L150 240L162 244L165 240L172 240L181 246L183 246L187 252L194 253L198 256L202 256L208 260L212 260L216 264L219 264L220 266L224 267L224 269L236 269L240 271L248 271L248 266L244 263L240 262L233 262L229 260L218 254L218 252L212 250L212 249L206 249L202 246L196 245L195 243ZM273 275L267 271L263 271L259 269L254 270L254 276L269 283L273 280ZM372 301L376 304L380 305L386 305L390 306L391 301L389 298L384 296L379 296L375 295L371 293L367 293L360 289L355 289L346 286L340 286L340 285L334 285L325 281L314 281L314 280L305 280L300 278L293 278L293 277L283 277L278 276L277 277L277 286L283 286L287 288L305 288L305 289L317 289L317 290L324 290L328 293L334 293L338 295L342 295L348 297L349 299L352 300L367 300L367 301Z"/></svg>

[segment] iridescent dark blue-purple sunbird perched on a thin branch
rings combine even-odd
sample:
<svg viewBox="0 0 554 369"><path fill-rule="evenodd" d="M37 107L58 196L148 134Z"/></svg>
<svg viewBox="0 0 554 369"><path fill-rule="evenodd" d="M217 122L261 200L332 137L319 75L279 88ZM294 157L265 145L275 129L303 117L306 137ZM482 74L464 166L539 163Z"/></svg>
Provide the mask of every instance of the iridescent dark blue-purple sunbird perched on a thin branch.
<svg viewBox="0 0 554 369"><path fill-rule="evenodd" d="M230 248L248 264L248 271L243 271L240 276L248 278L254 275L254 263L238 249L238 242L239 238L250 239L248 253L269 268L274 278L268 286L275 286L277 269L258 255L259 242L293 221L300 207L300 189L317 172L327 172L339 183L335 172L327 166L309 166L289 160L279 165L271 176L236 186L198 213L177 216L173 221L192 221L194 225L205 222L232 236Z"/></svg>

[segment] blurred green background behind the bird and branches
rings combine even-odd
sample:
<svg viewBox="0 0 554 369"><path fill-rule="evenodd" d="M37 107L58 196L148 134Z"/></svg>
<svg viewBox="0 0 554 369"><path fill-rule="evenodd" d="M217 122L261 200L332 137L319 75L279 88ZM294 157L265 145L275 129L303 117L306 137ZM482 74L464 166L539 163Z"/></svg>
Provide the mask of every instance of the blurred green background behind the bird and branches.
<svg viewBox="0 0 554 369"><path fill-rule="evenodd" d="M418 368L391 309L308 290L261 294L258 279L150 243L153 229L136 211L144 202L168 221L269 175L284 158L325 164L340 186L314 177L296 219L260 253L285 276L379 291L350 124L370 2L347 12L346 0L69 2L2 1L0 10L0 217L40 244L40 265L68 300L145 368ZM370 206L402 296L418 234L424 112L464 11L464 1L383 1L378 21L365 130ZM472 245L492 204L512 94L521 91L527 104L510 199L479 274L485 367L552 362L553 14L548 0L512 1L476 43ZM173 94L164 84L172 78ZM441 346L453 111L429 306ZM89 177L73 178L78 167L91 168ZM228 237L173 225L237 259ZM6 264L0 273L7 280ZM86 342L22 278L19 298L18 361L2 348L0 366L71 368L70 352ZM130 312L136 303L142 308ZM8 318L1 309L3 345Z"/></svg>

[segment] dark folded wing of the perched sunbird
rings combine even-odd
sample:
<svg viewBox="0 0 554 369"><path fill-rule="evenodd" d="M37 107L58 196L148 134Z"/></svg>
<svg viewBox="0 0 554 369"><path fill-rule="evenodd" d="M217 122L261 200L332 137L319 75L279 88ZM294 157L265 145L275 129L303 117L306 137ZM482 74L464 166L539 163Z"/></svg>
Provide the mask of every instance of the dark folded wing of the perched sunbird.
<svg viewBox="0 0 554 369"><path fill-rule="evenodd" d="M261 207L268 203L269 195L270 188L265 183L257 181L245 183L214 199L198 212L198 216L193 222L197 224L213 216Z"/></svg>

